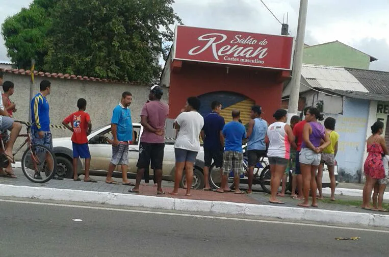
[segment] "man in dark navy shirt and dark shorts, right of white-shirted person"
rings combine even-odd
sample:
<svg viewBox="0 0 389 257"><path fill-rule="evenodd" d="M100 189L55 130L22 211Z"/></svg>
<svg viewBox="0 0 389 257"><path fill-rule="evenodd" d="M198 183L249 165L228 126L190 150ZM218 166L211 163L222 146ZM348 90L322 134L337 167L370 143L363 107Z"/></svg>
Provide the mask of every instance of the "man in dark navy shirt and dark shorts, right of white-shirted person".
<svg viewBox="0 0 389 257"><path fill-rule="evenodd" d="M222 130L224 127L224 118L220 116L222 105L219 101L213 101L211 104L212 112L204 117L204 126L201 131L201 139L204 142L204 190L212 190L209 182L209 170L212 160L215 167L220 168L221 179L227 179L223 175L223 152L224 138ZM226 188L217 189L218 192L230 191L227 183Z"/></svg>

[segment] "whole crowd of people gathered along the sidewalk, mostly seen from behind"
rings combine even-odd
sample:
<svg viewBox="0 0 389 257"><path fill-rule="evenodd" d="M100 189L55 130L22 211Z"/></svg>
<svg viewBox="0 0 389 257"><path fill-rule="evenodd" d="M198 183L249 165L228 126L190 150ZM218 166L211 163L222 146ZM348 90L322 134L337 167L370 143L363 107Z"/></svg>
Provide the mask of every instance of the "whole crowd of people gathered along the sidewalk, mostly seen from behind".
<svg viewBox="0 0 389 257"><path fill-rule="evenodd" d="M5 155L10 160L6 169L0 168L0 175L15 178L11 163L13 144L20 132L20 123L12 119L16 112L16 105L10 100L14 92L14 84L10 81L3 83L3 73L0 72L0 85L4 93L0 98L0 130L6 142ZM43 80L40 83L40 92L31 101L32 110L32 141L33 144L42 144L49 149L53 148L53 139L50 132L49 105L46 96L51 92L51 83ZM118 184L112 179L117 165L121 166L122 184L134 186L129 192L139 193L141 179L151 164L154 171L154 183L157 194L165 194L162 190L162 170L165 146L165 124L169 113L169 106L161 101L163 89L155 85L150 88L148 100L141 111L141 125L144 130L140 137L139 159L137 163L136 183L127 178L128 145L135 140L131 110L132 94L123 92L121 101L114 108L111 119L112 138L107 141L112 144L112 158L108 168L106 183ZM212 112L204 118L198 113L200 100L189 97L184 109L174 121L173 128L177 130L174 143L175 151L175 183L170 194L177 195L183 171L186 171L186 195L191 195L193 167L200 151L200 138L204 148L204 190L212 190L209 184L209 172L212 162L220 168L221 186L218 193L234 191L235 194L244 193L239 189L240 176L243 174L243 148L247 142L248 158L248 190L252 193L253 170L258 160L267 155L271 171L270 203L283 204L278 197L285 196L285 184L290 170L292 170L292 195L294 199L301 199L301 207L318 207L317 199L322 199L322 175L324 164L328 167L330 176L331 200L335 200L335 157L338 152L339 134L335 132L335 119L328 117L324 125L318 121L324 120L318 109L308 107L304 109L304 120L293 116L290 125L287 124L287 111L277 110L273 117L275 122L268 124L262 115L260 106L251 107L251 119L246 133L245 126L240 120L240 111L232 110L232 121L225 124L220 115L222 105L219 101L211 104ZM70 114L63 120L63 124L73 132L73 172L74 181L80 181L77 174L79 158L85 159L85 182L95 183L89 177L90 152L87 136L92 129L90 116L86 113L87 102L84 98L77 101L78 111ZM70 125L69 125L70 124ZM389 156L385 139L381 136L383 123L375 122L371 126L372 136L367 140L369 156L364 165L366 183L363 191L362 208L383 211L382 200L386 188L386 173L389 170ZM10 134L7 132L10 131ZM50 164L49 164L50 165ZM235 190L228 187L227 179L230 172L235 176ZM36 174L37 176L39 174ZM55 175L56 179L62 179ZM278 189L282 181L282 191ZM373 193L373 207L370 200ZM319 190L319 197L317 197ZM296 194L297 192L297 194ZM308 197L312 195L312 203Z"/></svg>

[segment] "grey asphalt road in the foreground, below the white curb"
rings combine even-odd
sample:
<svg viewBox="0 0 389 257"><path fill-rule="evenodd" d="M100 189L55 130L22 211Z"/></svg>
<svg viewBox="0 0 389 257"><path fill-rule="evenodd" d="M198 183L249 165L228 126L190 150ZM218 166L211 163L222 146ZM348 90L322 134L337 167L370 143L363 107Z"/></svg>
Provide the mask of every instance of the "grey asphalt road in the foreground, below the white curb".
<svg viewBox="0 0 389 257"><path fill-rule="evenodd" d="M355 257L389 251L389 231L204 215L0 199L0 256Z"/></svg>

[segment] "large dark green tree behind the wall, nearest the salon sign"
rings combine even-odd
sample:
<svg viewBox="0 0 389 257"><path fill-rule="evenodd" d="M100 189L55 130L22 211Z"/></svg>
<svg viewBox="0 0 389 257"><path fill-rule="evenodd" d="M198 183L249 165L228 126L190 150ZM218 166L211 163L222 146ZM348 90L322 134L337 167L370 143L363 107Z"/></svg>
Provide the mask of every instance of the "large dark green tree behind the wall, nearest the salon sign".
<svg viewBox="0 0 389 257"><path fill-rule="evenodd" d="M173 0L61 0L53 12L44 69L149 83L179 18Z"/></svg>

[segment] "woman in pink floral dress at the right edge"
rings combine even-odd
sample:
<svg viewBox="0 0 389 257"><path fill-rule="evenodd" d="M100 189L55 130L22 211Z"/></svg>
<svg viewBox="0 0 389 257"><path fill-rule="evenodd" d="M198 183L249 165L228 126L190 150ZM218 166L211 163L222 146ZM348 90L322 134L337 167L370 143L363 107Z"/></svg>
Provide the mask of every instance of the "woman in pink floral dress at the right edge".
<svg viewBox="0 0 389 257"><path fill-rule="evenodd" d="M363 191L362 209L372 209L370 199L372 190L377 181L385 178L385 170L382 163L382 155L387 155L385 138L381 137L383 132L383 123L376 121L372 126L372 134L367 140L368 158L365 161L364 172L366 176L365 187ZM385 184L386 187L386 184Z"/></svg>

